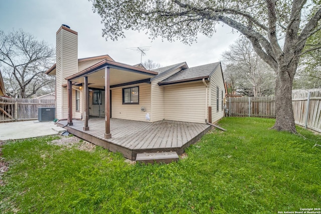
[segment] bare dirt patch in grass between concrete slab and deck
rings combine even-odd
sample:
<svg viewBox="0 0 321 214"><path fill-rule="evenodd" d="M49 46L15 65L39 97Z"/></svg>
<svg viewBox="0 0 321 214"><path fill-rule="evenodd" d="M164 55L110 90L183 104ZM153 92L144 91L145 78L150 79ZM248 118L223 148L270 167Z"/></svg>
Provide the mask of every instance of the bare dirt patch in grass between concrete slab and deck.
<svg viewBox="0 0 321 214"><path fill-rule="evenodd" d="M48 143L52 144L52 145L65 146L67 148L74 147L79 150L88 151L88 152L92 152L96 148L95 144L85 141L85 140L83 140L79 137L76 137L76 136L71 136L71 137L61 136L60 139L53 140Z"/></svg>

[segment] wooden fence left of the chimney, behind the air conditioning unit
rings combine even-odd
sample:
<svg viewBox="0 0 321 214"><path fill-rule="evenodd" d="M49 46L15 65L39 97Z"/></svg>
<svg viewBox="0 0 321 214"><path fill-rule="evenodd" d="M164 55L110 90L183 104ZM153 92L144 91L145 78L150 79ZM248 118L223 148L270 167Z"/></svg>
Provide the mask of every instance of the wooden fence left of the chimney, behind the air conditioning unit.
<svg viewBox="0 0 321 214"><path fill-rule="evenodd" d="M55 107L55 100L0 98L0 122L36 120L39 107Z"/></svg>

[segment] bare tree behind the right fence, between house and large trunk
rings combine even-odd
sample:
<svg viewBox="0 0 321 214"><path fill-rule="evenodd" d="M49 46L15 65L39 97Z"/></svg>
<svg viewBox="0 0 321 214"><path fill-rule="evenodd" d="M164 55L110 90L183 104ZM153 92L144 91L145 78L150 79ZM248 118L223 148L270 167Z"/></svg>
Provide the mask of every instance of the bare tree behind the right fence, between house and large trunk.
<svg viewBox="0 0 321 214"><path fill-rule="evenodd" d="M224 77L232 82L233 90L239 94L260 97L269 96L275 87L274 71L253 50L246 38L230 45L230 50L222 54Z"/></svg>

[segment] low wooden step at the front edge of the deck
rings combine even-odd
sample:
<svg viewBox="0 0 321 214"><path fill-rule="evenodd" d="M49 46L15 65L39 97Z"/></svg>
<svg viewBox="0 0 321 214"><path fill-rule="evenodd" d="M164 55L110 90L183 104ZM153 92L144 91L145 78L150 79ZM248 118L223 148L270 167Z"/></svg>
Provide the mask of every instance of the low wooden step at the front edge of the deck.
<svg viewBox="0 0 321 214"><path fill-rule="evenodd" d="M170 152L153 152L153 153L138 153L136 161L142 163L170 163L178 161L179 155L175 151Z"/></svg>

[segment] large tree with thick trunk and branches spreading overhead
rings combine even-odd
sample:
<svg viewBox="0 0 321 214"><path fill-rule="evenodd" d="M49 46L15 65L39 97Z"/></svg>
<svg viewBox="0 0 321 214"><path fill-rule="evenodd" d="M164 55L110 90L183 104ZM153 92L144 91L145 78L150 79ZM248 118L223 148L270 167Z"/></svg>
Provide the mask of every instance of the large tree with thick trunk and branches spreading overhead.
<svg viewBox="0 0 321 214"><path fill-rule="evenodd" d="M321 4L306 0L90 0L104 24L103 36L116 40L125 30L146 30L151 38L185 43L199 33L212 36L226 24L251 41L276 73L276 130L295 133L292 83L305 42L321 30Z"/></svg>

